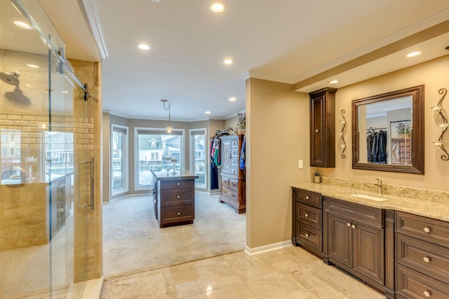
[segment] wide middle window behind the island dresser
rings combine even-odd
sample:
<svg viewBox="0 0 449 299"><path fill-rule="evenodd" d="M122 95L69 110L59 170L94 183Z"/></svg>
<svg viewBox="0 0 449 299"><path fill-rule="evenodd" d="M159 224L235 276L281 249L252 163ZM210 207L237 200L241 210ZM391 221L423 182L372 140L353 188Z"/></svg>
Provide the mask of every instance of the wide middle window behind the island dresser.
<svg viewBox="0 0 449 299"><path fill-rule="evenodd" d="M184 169L184 130L135 128L135 190L153 187L151 169L160 172ZM175 157L175 162L172 159Z"/></svg>

